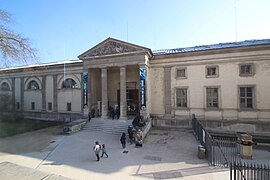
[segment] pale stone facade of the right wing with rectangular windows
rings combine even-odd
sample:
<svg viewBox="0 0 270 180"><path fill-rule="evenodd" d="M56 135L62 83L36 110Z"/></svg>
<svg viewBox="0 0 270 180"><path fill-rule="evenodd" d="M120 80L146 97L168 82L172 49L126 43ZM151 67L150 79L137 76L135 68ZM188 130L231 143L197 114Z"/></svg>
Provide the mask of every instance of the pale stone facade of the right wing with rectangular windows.
<svg viewBox="0 0 270 180"><path fill-rule="evenodd" d="M266 92L270 89L269 48L267 44L154 57L149 73L156 84L152 86L151 96L156 100L164 97L159 98L158 103L152 101L151 113L160 119L156 123L161 126L188 125L188 122L179 121L195 114L208 128L269 131L270 97ZM246 71L250 72L241 72L246 65L250 68ZM211 74L212 68L215 72ZM178 76L178 71L184 74ZM164 90L159 90L160 87ZM215 105L208 104L211 97L207 91L211 89L216 90ZM179 90L186 92L185 105L177 104ZM250 101L248 106L247 101ZM164 120L164 114L168 113L171 118Z"/></svg>

